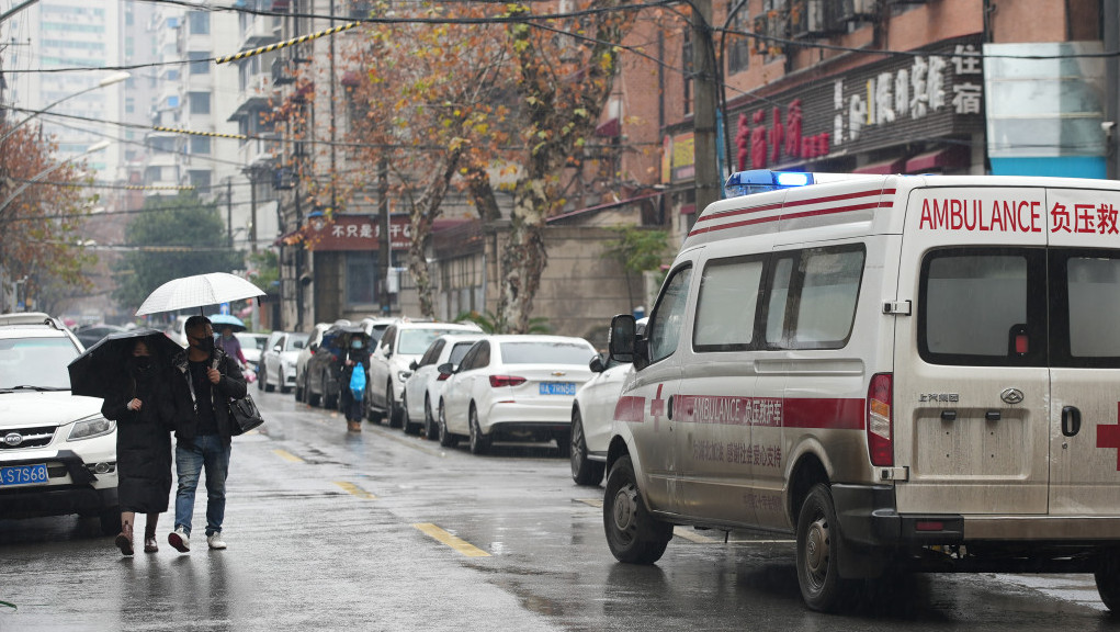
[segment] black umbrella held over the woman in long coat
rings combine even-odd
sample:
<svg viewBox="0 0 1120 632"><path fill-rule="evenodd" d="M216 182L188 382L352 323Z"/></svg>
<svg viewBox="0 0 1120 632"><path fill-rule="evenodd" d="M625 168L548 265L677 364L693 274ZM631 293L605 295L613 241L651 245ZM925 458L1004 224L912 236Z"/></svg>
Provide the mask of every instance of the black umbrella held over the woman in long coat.
<svg viewBox="0 0 1120 632"><path fill-rule="evenodd" d="M71 374L71 392L102 399L109 397L118 381L124 377L124 363L132 354L138 338L143 338L148 343L148 350L165 365L170 364L174 354L183 351L181 346L159 329L109 334L66 366Z"/></svg>

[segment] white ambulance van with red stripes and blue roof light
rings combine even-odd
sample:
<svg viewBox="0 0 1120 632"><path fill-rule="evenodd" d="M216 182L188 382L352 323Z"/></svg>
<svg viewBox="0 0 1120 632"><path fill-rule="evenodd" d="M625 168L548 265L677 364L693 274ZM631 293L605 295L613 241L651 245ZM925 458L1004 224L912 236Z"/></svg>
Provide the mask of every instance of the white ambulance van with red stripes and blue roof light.
<svg viewBox="0 0 1120 632"><path fill-rule="evenodd" d="M697 220L644 335L612 322L615 557L752 528L795 535L813 610L912 569L1093 573L1120 610L1120 183L729 185L759 179Z"/></svg>

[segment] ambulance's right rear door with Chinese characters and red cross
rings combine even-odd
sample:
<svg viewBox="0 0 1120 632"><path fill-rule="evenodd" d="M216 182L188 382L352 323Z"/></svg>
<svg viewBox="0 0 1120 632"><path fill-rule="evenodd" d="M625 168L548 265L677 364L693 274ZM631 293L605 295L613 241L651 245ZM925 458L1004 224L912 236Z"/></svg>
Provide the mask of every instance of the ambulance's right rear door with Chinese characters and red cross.
<svg viewBox="0 0 1120 632"><path fill-rule="evenodd" d="M1120 514L1120 192L1051 188L1054 515ZM1075 536L1075 533L1070 533Z"/></svg>

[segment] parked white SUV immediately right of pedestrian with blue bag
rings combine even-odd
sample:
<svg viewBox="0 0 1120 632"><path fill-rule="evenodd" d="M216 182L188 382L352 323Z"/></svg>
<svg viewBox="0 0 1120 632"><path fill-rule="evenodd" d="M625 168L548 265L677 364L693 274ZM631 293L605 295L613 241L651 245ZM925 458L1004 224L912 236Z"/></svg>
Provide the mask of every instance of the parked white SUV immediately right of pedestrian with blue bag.
<svg viewBox="0 0 1120 632"><path fill-rule="evenodd" d="M370 379L366 381L366 415L372 421L388 417L389 425L401 424L401 397L404 381L412 374L409 365L419 360L431 342L444 334L482 333L474 323L432 323L400 320L385 329L370 356Z"/></svg>

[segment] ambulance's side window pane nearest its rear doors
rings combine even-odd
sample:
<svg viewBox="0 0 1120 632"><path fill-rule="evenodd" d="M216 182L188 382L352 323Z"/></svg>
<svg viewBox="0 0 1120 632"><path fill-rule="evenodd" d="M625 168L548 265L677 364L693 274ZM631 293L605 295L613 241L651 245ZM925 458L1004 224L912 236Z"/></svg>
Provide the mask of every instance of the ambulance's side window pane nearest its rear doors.
<svg viewBox="0 0 1120 632"><path fill-rule="evenodd" d="M843 348L856 322L864 247L783 252L766 292L771 348Z"/></svg>

